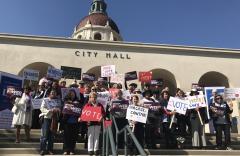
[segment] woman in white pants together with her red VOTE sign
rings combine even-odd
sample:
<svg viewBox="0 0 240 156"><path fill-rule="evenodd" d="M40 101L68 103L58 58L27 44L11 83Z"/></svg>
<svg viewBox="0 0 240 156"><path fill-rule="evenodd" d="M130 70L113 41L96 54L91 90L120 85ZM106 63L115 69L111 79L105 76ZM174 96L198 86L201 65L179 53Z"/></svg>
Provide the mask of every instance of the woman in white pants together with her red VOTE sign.
<svg viewBox="0 0 240 156"><path fill-rule="evenodd" d="M100 109L100 112L93 111L93 108ZM88 125L88 152L90 155L99 154L99 135L101 131L101 121L105 117L102 104L97 103L97 93L91 92L89 101L84 106L79 121L87 121Z"/></svg>

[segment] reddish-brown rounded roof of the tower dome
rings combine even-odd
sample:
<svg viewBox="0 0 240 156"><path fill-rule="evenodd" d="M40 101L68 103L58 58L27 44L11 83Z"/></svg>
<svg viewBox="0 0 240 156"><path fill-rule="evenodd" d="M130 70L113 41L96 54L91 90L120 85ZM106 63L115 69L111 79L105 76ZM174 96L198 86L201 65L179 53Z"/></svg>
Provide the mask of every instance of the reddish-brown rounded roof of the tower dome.
<svg viewBox="0 0 240 156"><path fill-rule="evenodd" d="M92 25L99 25L99 26L105 26L107 25L107 22L108 22L109 26L119 34L119 29L116 23L111 18L109 18L106 14L103 14L103 13L93 13L84 17L80 21L80 23L77 25L76 30L79 30L85 27L85 25L88 24L88 21Z"/></svg>

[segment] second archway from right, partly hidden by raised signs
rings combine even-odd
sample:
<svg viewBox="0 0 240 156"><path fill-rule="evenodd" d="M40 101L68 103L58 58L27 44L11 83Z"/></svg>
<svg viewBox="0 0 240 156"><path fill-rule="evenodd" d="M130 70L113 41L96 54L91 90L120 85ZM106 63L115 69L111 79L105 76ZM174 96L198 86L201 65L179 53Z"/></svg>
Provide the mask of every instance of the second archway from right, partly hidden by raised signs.
<svg viewBox="0 0 240 156"><path fill-rule="evenodd" d="M175 94L177 89L177 82L173 73L166 69L153 69L152 71L152 79L158 80L161 79L163 81L162 88L169 87L169 91L171 95Z"/></svg>

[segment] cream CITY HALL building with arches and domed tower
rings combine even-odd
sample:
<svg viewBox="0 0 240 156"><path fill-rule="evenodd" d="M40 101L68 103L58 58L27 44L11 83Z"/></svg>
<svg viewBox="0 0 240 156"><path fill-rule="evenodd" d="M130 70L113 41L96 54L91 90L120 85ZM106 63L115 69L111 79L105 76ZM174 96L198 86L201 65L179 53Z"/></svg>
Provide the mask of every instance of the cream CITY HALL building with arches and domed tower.
<svg viewBox="0 0 240 156"><path fill-rule="evenodd" d="M93 1L71 38L0 34L0 71L35 69L42 77L49 66L68 66L100 77L104 65L119 74L152 71L171 91L189 91L192 83L240 87L239 50L124 42L103 0Z"/></svg>

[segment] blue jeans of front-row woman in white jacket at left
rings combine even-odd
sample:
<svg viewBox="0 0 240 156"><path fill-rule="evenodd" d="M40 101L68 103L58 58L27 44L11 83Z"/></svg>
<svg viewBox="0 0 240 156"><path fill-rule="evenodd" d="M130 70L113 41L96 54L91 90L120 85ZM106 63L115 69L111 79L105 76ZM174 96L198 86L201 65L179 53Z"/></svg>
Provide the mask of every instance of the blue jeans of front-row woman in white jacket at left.
<svg viewBox="0 0 240 156"><path fill-rule="evenodd" d="M40 138L40 150L52 151L53 150L53 134L50 130L51 119L44 119L42 124L42 135Z"/></svg>

